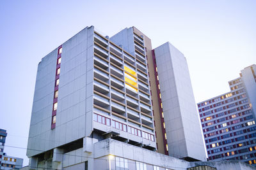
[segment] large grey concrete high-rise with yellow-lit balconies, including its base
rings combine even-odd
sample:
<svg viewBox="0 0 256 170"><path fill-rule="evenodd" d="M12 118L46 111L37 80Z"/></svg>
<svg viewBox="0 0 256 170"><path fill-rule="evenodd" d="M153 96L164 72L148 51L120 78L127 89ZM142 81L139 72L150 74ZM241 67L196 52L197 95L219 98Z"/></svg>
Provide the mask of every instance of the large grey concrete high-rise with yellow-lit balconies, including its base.
<svg viewBox="0 0 256 170"><path fill-rule="evenodd" d="M86 27L38 64L27 155L31 169L207 166L189 162L206 156L184 55Z"/></svg>

